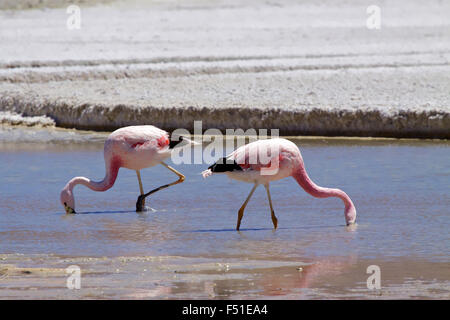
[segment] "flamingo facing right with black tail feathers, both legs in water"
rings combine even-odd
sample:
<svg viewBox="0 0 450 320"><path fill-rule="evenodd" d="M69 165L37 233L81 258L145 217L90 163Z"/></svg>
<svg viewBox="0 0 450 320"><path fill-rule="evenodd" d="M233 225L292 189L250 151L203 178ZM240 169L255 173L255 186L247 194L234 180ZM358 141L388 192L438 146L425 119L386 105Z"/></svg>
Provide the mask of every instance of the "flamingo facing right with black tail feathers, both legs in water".
<svg viewBox="0 0 450 320"><path fill-rule="evenodd" d="M275 153L274 153L275 152ZM264 161L264 157L267 161ZM297 146L286 139L268 139L251 142L241 146L225 158L219 159L202 172L204 178L213 173L225 173L231 179L253 183L253 188L244 204L238 211L236 230L239 230L245 207L255 189L264 185L269 199L273 226L276 229L278 219L272 205L269 183L286 177L293 177L310 195L317 198L337 197L345 205L345 221L347 225L356 221L356 208L350 197L340 189L323 188L316 185L308 176L302 155Z"/></svg>

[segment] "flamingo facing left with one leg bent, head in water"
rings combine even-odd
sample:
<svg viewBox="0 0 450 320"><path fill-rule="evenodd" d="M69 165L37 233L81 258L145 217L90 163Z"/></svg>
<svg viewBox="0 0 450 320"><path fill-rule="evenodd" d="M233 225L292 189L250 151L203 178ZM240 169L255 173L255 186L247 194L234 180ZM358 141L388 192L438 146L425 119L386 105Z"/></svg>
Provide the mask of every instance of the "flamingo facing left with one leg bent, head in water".
<svg viewBox="0 0 450 320"><path fill-rule="evenodd" d="M114 131L105 141L106 174L104 179L102 181L92 181L85 177L71 179L62 189L60 195L61 204L64 206L66 213L76 213L73 194L73 188L76 185L82 184L94 191L106 191L114 185L119 169L122 167L136 171L140 190L136 202L136 211L142 211L146 197L185 180L183 174L163 162L170 157L173 148L179 146L178 144L183 140L188 144L195 144L183 136L175 139L168 132L151 125L129 126ZM162 164L175 173L178 180L144 193L140 170L157 164Z"/></svg>

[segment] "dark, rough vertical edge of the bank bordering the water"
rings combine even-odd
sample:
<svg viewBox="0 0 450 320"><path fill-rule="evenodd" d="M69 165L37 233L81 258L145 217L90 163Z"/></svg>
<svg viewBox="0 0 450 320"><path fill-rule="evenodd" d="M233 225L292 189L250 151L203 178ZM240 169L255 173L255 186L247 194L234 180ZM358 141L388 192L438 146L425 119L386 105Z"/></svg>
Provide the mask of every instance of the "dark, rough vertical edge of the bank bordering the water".
<svg viewBox="0 0 450 320"><path fill-rule="evenodd" d="M136 109L123 104L71 105L64 101L27 101L2 98L3 108L26 115L55 119L60 127L112 131L139 124L153 124L167 130L185 128L193 132L194 121L203 120L203 129L229 128L279 129L280 134L323 136L361 136L398 138L450 138L450 116L447 112L430 110L283 110L280 108L161 108Z"/></svg>

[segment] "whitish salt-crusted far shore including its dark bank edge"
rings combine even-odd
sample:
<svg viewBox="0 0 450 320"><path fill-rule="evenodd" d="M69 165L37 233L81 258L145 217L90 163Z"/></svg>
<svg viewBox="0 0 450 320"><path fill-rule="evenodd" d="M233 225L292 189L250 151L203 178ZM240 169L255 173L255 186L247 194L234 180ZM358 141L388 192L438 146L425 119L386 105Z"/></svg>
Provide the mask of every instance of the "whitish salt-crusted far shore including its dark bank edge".
<svg viewBox="0 0 450 320"><path fill-rule="evenodd" d="M56 125L449 138L450 5L117 1L1 11L0 111ZM49 36L51 35L51 36Z"/></svg>

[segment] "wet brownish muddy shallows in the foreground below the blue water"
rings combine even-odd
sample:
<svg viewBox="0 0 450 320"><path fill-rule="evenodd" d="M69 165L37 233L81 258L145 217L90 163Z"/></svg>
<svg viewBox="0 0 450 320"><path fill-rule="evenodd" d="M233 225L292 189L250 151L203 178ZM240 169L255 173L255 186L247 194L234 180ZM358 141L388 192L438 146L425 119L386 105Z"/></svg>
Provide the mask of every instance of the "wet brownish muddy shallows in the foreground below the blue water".
<svg viewBox="0 0 450 320"><path fill-rule="evenodd" d="M380 290L369 290L364 281L371 264L386 270ZM79 290L67 288L69 266L81 270ZM2 254L0 299L448 299L447 276L445 263L406 259Z"/></svg>

